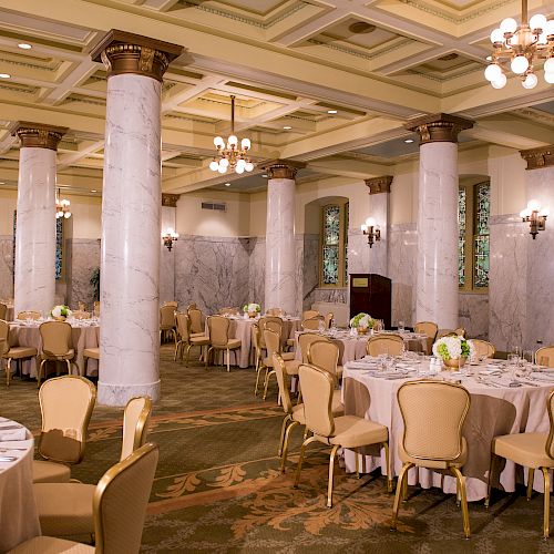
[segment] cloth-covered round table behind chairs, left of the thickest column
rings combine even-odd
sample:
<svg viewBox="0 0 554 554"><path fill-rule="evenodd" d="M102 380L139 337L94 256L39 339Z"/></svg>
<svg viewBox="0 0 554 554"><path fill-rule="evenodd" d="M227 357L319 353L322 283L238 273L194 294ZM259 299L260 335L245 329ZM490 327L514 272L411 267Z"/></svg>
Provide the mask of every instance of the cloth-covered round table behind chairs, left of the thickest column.
<svg viewBox="0 0 554 554"><path fill-rule="evenodd" d="M85 375L83 352L85 348L98 348L100 345L100 325L92 319L76 319L68 321L71 325L72 348L75 349L75 362L79 375ZM37 348L39 356L42 352L40 338L40 321L13 321L10 322L10 346L27 346ZM39 361L40 363L40 361ZM90 359L86 365L86 376L96 376L99 369L98 360ZM13 367L12 367L13 370ZM37 377L37 360L23 360L23 375Z"/></svg>

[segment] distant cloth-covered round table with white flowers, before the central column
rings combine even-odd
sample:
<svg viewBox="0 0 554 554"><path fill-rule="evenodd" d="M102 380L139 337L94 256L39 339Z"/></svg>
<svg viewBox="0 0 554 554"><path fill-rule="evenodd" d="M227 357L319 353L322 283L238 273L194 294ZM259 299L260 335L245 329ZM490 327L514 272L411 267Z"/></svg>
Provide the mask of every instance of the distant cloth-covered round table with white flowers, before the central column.
<svg viewBox="0 0 554 554"><path fill-rule="evenodd" d="M252 326L259 321L259 317L247 318L239 316L225 316L230 319L229 338L240 339L240 348L230 351L230 365L238 366L239 368L247 368L255 363L254 345L252 343ZM286 342L288 338L295 338L296 331L300 329L300 318L285 317L283 318L283 341ZM207 335L207 320L206 320L206 335ZM224 352L219 351L215 355L216 363L225 363Z"/></svg>

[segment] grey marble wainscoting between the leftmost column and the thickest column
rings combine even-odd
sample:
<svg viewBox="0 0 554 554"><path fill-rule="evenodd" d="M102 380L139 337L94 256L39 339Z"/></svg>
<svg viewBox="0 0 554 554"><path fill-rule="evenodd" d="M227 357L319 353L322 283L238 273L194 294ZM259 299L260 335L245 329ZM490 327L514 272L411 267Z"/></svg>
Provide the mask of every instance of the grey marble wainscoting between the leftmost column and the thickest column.
<svg viewBox="0 0 554 554"><path fill-rule="evenodd" d="M65 240L65 276L68 306L73 309L79 302L92 310L94 294L91 275L100 267L100 240L95 238L68 238Z"/></svg>

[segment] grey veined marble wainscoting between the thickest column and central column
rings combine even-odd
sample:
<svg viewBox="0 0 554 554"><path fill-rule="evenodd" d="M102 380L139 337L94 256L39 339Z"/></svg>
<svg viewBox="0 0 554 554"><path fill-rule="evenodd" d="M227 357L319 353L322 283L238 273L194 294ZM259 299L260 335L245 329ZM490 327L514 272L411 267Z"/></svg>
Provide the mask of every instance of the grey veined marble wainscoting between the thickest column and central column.
<svg viewBox="0 0 554 554"><path fill-rule="evenodd" d="M174 244L175 296L205 314L259 301L249 296L250 239L182 235Z"/></svg>

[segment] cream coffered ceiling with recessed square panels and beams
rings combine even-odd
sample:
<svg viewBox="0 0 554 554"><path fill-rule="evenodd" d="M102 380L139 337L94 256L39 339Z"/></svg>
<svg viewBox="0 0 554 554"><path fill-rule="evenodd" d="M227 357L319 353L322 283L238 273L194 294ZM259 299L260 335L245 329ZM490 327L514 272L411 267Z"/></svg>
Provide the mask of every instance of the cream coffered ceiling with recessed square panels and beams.
<svg viewBox="0 0 554 554"><path fill-rule="evenodd" d="M530 12L552 18L554 0ZM89 52L113 28L186 48L163 86L165 192L264 186L257 168L207 168L230 94L255 161L306 162L304 179L391 173L417 156L403 124L427 113L474 119L461 147L552 144L554 85L495 91L483 78L505 17L520 19L519 0L0 0L0 186L17 184L8 130L24 120L68 126L59 184L100 194L107 81Z"/></svg>

